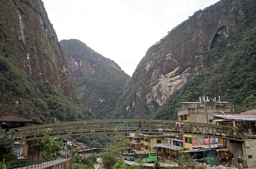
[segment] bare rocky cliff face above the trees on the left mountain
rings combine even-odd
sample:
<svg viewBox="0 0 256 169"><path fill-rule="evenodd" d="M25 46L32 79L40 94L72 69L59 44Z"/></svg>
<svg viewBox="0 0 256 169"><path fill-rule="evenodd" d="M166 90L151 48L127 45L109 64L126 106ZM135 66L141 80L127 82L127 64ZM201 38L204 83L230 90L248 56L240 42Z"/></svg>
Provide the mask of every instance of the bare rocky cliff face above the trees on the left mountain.
<svg viewBox="0 0 256 169"><path fill-rule="evenodd" d="M55 90L75 98L68 78L67 57L58 42L41 0L3 0L0 19L7 32L1 51L36 81L50 82Z"/></svg>

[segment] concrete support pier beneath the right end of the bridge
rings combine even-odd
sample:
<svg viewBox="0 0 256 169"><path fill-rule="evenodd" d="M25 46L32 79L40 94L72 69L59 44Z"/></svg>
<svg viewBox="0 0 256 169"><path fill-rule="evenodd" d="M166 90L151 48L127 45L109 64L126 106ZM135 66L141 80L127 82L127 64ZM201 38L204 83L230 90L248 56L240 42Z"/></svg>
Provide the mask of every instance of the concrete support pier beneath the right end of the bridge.
<svg viewBox="0 0 256 169"><path fill-rule="evenodd" d="M236 166L239 166L237 160L240 156L243 159L244 168L256 167L256 139L246 139L244 142L228 140L228 143Z"/></svg>

